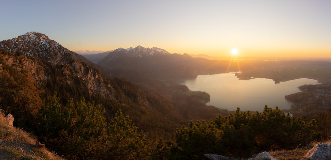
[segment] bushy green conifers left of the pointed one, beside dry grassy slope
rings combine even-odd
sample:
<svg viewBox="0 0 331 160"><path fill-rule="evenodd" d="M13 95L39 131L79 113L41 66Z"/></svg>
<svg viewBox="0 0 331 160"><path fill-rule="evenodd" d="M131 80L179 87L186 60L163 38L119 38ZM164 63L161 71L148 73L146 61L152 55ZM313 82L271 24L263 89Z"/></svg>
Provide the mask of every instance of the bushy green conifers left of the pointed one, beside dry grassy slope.
<svg viewBox="0 0 331 160"><path fill-rule="evenodd" d="M59 98L54 94L40 110L43 124L42 137L61 154L86 159L98 156L97 150L106 131L105 110L101 105L70 99L61 111ZM94 155L95 154L95 155Z"/></svg>

